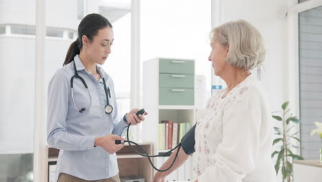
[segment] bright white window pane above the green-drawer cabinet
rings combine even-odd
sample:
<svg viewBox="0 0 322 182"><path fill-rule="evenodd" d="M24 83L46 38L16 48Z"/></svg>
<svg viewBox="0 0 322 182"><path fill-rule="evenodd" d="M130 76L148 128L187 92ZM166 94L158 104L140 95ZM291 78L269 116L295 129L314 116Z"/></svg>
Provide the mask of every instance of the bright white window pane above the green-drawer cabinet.
<svg viewBox="0 0 322 182"><path fill-rule="evenodd" d="M212 69L208 61L210 30L211 0L142 0L141 60L195 59L195 74L206 77L208 99Z"/></svg>

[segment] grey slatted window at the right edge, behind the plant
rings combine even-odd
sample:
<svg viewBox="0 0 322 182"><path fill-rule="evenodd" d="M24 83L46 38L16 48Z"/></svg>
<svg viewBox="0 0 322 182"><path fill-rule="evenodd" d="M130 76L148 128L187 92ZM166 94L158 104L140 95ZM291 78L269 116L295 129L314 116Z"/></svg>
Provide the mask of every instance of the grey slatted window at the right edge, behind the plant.
<svg viewBox="0 0 322 182"><path fill-rule="evenodd" d="M321 139L310 132L322 122L322 6L299 13L299 87L301 153L319 159Z"/></svg>

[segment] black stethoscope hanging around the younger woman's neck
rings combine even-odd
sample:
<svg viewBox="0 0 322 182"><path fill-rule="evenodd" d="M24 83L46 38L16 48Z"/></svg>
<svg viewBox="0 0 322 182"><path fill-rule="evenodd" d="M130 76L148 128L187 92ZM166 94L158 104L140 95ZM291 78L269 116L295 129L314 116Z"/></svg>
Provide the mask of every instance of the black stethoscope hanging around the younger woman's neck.
<svg viewBox="0 0 322 182"><path fill-rule="evenodd" d="M78 75L78 72L76 70L75 61L74 61L74 72L75 72L74 76L72 77L72 79L70 79L70 88L72 88L72 99L73 99L73 104L74 104L75 109L78 110L78 112L82 113L83 111L89 110L89 108L91 108L91 106L92 106L92 96L91 96L91 93L88 90L88 87L87 87L87 84L86 84L85 80L81 76ZM85 88L86 88L86 90L88 92L90 101L89 101L89 105L87 105L87 107L86 107L87 109L86 108L78 109L76 104L75 104L74 88L73 88L73 81L74 81L75 78L78 78L83 82L83 85L85 86ZM104 90L105 90L105 96L106 96L106 101L107 101L107 105L105 105L105 112L107 114L111 114L111 112L113 111L113 107L109 104L109 98L111 98L111 92L110 92L109 88L106 87L105 79L104 78L102 78L102 79L103 79L103 83L104 83ZM107 96L109 96L109 98Z"/></svg>

